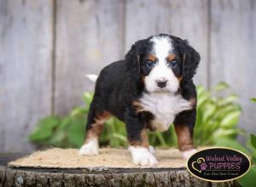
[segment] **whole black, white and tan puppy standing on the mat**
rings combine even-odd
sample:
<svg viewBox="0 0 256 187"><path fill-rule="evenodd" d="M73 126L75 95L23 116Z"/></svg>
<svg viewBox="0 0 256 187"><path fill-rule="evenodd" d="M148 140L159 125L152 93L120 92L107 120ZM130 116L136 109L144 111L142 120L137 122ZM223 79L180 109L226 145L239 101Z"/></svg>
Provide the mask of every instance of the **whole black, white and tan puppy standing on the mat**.
<svg viewBox="0 0 256 187"><path fill-rule="evenodd" d="M192 78L199 61L200 55L179 37L158 34L135 42L125 59L103 68L97 78L79 154L99 153L98 138L111 115L126 124L135 164L157 163L147 129L166 131L172 122L183 157L193 154L196 90Z"/></svg>

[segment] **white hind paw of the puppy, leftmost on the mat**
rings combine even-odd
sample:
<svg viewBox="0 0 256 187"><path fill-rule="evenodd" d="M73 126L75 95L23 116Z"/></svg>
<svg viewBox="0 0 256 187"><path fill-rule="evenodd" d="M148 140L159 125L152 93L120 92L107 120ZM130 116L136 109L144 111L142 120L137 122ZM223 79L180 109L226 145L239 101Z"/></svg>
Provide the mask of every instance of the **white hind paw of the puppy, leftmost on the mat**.
<svg viewBox="0 0 256 187"><path fill-rule="evenodd" d="M84 144L79 150L80 156L95 156L99 155L99 144L97 139L91 139L88 143Z"/></svg>

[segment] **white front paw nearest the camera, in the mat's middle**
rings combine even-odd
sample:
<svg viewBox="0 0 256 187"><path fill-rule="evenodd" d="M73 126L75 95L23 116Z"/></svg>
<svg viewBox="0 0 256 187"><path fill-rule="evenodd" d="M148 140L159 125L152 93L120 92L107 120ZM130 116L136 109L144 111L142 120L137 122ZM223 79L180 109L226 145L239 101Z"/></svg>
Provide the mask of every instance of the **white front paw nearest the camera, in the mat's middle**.
<svg viewBox="0 0 256 187"><path fill-rule="evenodd" d="M141 166L157 164L157 160L148 149L130 146L129 150L131 151L133 163Z"/></svg>

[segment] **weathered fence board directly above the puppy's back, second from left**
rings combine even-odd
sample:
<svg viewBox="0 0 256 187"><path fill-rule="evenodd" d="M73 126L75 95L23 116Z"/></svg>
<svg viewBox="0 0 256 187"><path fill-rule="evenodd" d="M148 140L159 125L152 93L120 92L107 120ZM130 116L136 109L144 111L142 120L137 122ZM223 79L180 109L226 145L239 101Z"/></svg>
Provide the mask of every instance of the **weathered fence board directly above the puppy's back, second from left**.
<svg viewBox="0 0 256 187"><path fill-rule="evenodd" d="M122 59L123 1L57 1L55 112L67 114L83 105L82 94L99 74Z"/></svg>

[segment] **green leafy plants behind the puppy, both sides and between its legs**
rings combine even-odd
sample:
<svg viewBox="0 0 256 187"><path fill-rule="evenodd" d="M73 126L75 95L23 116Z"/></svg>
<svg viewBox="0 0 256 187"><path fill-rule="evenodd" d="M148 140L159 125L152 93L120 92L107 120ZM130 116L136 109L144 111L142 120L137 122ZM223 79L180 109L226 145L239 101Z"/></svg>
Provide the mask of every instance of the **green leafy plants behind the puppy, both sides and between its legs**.
<svg viewBox="0 0 256 187"><path fill-rule="evenodd" d="M197 87L197 121L195 125L195 144L236 144L236 127L241 115L241 107L236 103L237 96L229 94L218 97L229 86L221 82L212 91L202 86ZM80 147L83 144L85 123L93 94L85 92L85 107L73 109L67 116L47 116L38 122L29 139L37 144L57 147ZM150 144L162 148L177 146L177 137L173 125L165 133L148 132ZM125 124L111 117L105 122L100 138L101 145L111 147L127 146ZM237 143L237 146L242 146Z"/></svg>

